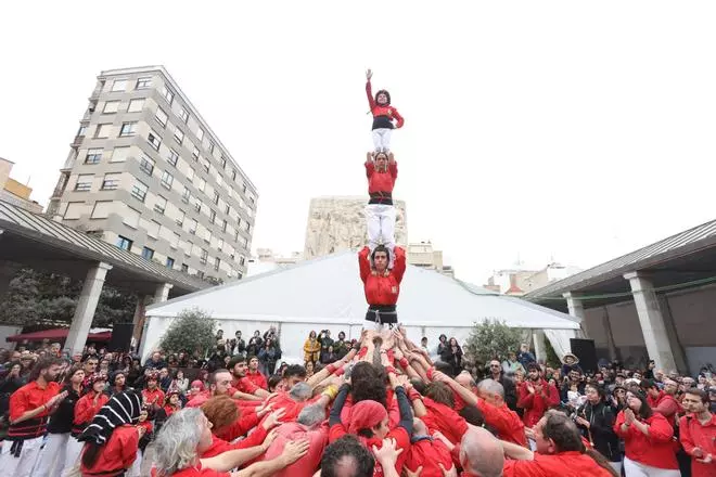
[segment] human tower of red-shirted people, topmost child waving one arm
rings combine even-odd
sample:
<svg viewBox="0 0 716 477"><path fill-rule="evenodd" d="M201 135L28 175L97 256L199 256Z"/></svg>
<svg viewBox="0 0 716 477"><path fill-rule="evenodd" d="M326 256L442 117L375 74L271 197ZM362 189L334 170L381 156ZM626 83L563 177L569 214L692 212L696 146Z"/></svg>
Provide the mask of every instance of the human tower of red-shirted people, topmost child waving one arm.
<svg viewBox="0 0 716 477"><path fill-rule="evenodd" d="M395 244L395 205L393 188L398 178L398 163L391 152L394 129L402 127L404 119L391 105L391 94L380 90L373 96L371 78L366 72L366 94L373 115L373 146L367 154L366 176L370 199L366 206L368 245L358 254L360 279L363 282L368 311L366 320L391 328L398 323L396 305L400 282L406 271L406 252Z"/></svg>

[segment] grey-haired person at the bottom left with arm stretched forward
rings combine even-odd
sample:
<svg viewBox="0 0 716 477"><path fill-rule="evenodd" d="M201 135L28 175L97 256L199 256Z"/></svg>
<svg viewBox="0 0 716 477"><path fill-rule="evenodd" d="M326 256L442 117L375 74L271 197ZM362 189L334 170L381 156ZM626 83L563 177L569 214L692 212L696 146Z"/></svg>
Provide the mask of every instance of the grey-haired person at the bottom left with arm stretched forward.
<svg viewBox="0 0 716 477"><path fill-rule="evenodd" d="M255 454L252 449L239 449L214 457L200 459L204 450L212 446L212 424L200 409L183 409L174 413L162 427L154 444L157 477L270 476L293 464L308 451L308 442L305 440L289 442L278 457L230 473Z"/></svg>

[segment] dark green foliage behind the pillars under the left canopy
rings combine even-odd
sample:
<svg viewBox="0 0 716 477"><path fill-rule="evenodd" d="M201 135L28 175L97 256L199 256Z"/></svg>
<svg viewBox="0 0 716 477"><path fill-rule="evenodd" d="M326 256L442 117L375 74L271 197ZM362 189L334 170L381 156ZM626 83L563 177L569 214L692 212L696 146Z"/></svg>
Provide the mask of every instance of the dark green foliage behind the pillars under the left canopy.
<svg viewBox="0 0 716 477"><path fill-rule="evenodd" d="M54 273L22 269L10 282L0 306L0 323L22 326L72 323L82 282ZM104 285L92 326L131 322L137 296Z"/></svg>

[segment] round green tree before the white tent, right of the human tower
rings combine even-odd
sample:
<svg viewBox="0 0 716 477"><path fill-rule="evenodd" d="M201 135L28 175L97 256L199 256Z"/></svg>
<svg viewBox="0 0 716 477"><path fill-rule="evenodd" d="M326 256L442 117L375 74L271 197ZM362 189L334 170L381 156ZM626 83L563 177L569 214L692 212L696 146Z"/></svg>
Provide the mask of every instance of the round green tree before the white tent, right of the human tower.
<svg viewBox="0 0 716 477"><path fill-rule="evenodd" d="M485 320L475 323L464 347L464 352L475 363L507 358L508 352L520 349L522 331L509 327L504 322Z"/></svg>

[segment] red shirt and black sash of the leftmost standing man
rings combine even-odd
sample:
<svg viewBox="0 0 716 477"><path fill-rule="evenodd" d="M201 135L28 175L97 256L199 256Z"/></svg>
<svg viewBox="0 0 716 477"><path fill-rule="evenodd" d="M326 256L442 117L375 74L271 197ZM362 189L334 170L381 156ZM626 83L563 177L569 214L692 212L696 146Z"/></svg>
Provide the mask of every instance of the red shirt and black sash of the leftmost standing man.
<svg viewBox="0 0 716 477"><path fill-rule="evenodd" d="M46 387L38 386L37 381L26 384L10 396L10 421L20 418L27 411L37 409L60 394L60 384L48 383ZM46 434L48 410L30 420L11 424L8 429L8 440L33 439Z"/></svg>

